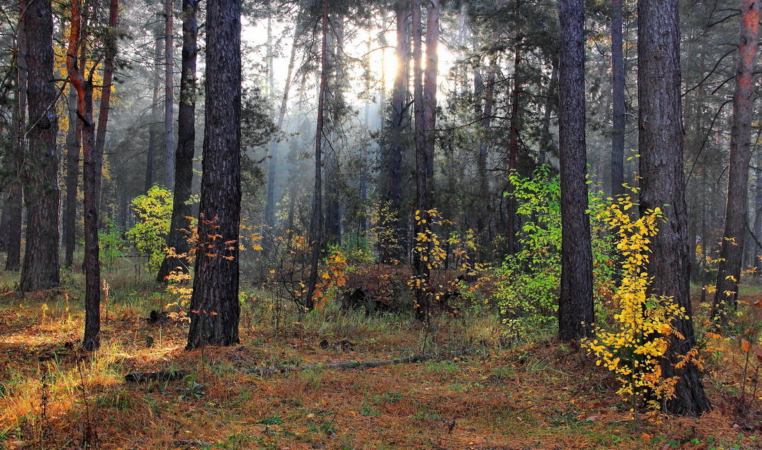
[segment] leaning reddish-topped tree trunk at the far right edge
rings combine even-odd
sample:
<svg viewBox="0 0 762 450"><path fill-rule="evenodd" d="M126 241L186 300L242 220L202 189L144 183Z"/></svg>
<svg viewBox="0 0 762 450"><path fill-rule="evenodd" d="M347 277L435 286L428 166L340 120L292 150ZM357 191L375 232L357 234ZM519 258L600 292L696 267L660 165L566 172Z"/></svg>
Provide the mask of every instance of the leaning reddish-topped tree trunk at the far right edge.
<svg viewBox="0 0 762 450"><path fill-rule="evenodd" d="M741 281L741 258L746 236L746 195L751 161L751 120L754 101L754 65L757 61L757 35L760 0L741 0L741 30L738 33L738 66L733 95L733 127L730 133L730 169L728 198L725 203L725 233L722 236L717 291L712 304L712 318L726 323L735 310L738 283Z"/></svg>

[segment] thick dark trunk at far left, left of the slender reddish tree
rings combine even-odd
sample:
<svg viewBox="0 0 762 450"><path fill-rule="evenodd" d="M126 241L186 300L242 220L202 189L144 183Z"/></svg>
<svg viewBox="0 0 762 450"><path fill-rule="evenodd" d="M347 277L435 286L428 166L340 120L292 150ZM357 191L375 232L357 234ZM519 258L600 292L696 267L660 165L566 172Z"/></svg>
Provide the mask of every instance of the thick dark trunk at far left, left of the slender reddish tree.
<svg viewBox="0 0 762 450"><path fill-rule="evenodd" d="M56 86L53 80L53 9L50 1L26 3L29 150L24 164L27 245L22 292L59 285L59 188Z"/></svg>

